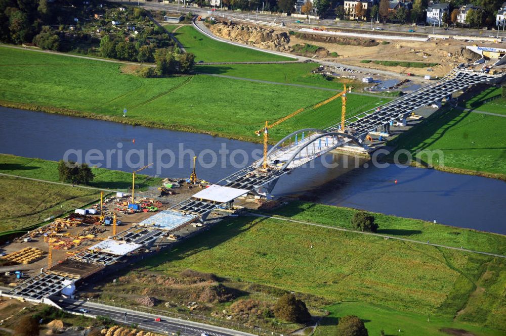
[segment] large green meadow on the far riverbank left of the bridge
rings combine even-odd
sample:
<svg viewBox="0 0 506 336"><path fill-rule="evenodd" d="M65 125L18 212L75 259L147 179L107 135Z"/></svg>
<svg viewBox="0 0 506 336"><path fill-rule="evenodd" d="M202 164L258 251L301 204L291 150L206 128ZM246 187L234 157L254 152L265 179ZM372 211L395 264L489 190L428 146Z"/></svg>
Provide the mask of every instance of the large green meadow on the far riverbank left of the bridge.
<svg viewBox="0 0 506 336"><path fill-rule="evenodd" d="M254 132L266 119L279 119L333 94L326 90L206 75L138 78L121 73L118 64L5 47L0 47L0 65L3 65L0 101L33 109L67 109L70 110L65 112L67 114L78 111L87 117L245 140L257 140ZM351 111L359 107L374 106L379 101L380 98L350 95L348 111L353 113ZM128 109L128 118L121 117L123 108ZM328 106L323 106L321 111L325 108ZM317 115L318 111L314 112ZM331 118L327 118L327 124L322 125L322 119L312 118L309 111L304 112L279 125L272 139L301 128L335 124L340 120L340 113L340 107L336 106Z"/></svg>

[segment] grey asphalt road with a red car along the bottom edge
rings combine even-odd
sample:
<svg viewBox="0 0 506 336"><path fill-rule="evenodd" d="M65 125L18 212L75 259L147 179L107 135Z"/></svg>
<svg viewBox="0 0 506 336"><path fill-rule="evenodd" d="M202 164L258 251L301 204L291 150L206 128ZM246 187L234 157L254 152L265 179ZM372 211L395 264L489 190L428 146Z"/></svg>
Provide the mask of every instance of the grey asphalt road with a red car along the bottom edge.
<svg viewBox="0 0 506 336"><path fill-rule="evenodd" d="M63 299L61 297L54 297L52 300L65 311L82 314L82 312L79 312L79 309L85 308L89 310L87 315L107 316L120 323L124 323L124 313L126 312L126 324L130 325L136 323L139 325L139 328L155 332L171 334L180 331L181 335L184 336L200 336L204 332L209 336L251 336L251 334L242 331L149 313L141 313L118 307L89 303L86 301ZM157 317L161 319L160 322L155 321L155 318Z"/></svg>

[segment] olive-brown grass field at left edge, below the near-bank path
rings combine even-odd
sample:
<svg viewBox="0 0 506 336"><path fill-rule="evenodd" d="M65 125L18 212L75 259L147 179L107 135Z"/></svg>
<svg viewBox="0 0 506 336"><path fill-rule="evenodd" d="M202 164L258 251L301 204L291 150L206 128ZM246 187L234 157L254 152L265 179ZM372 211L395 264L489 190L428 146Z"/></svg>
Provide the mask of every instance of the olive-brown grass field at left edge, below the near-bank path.
<svg viewBox="0 0 506 336"><path fill-rule="evenodd" d="M100 199L98 190L6 176L0 176L0 188L0 235L29 228Z"/></svg>

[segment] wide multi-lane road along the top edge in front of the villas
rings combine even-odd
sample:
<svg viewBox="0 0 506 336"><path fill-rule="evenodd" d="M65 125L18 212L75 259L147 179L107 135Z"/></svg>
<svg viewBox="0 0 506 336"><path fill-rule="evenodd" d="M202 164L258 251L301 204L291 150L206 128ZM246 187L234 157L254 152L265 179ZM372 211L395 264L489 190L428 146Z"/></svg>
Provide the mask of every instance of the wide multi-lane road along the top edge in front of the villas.
<svg viewBox="0 0 506 336"><path fill-rule="evenodd" d="M113 0L115 2L121 2L119 0ZM136 6L137 2L121 2L123 4L129 4ZM166 5L163 3L139 3L141 7L146 7L150 9L158 9L158 10L170 10L177 12L179 9L179 12L182 13L188 13L191 12L193 14L207 14L207 11L210 11L210 8L198 8L198 7L183 7L183 6L177 6L177 5ZM216 10L217 15L225 15L227 18L232 19L238 19L238 20L258 20L268 23L281 23L281 21L284 21L284 23L289 26L292 29L297 29L297 27L303 27L303 26L313 26L313 27L319 27L319 26L325 26L325 27L332 27L332 28L346 28L346 29L356 29L356 30L364 30L364 32L370 32L371 31L371 23L369 22L357 22L357 21L335 21L333 18L326 18L318 21L311 20L311 24L309 25L308 19L299 19L299 18L292 18L289 16L283 16L283 15L276 15L276 14L262 14L261 8L259 8L259 13L257 16L256 12L235 12L235 11L224 11L217 8ZM296 21L302 21L304 24L297 24ZM433 27L433 26L412 26L412 25L401 25L401 24L372 24L373 28L381 27L383 28L382 33L385 32L391 32L391 33L398 33L398 32L404 32L404 33L410 33L409 30L414 30L415 34L442 34L442 35L450 35L450 36L482 36L482 37L497 37L497 30L481 30L481 29L469 29L469 28L449 28L448 30L445 30L444 27ZM381 37L379 35L378 37ZM499 38L506 38L506 31L499 31Z"/></svg>

